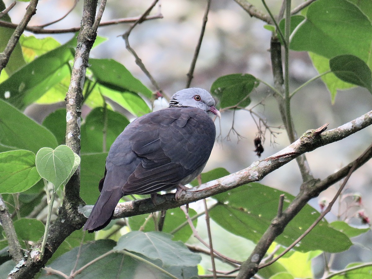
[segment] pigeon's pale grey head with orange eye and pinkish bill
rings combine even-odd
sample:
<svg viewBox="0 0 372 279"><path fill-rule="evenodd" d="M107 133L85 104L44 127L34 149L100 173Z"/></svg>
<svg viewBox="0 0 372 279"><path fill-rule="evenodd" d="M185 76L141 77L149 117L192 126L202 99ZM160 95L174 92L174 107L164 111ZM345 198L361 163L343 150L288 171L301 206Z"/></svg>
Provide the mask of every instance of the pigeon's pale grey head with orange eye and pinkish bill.
<svg viewBox="0 0 372 279"><path fill-rule="evenodd" d="M221 118L221 113L214 106L215 101L212 95L207 90L195 87L182 89L174 93L169 101L169 108L194 107Z"/></svg>

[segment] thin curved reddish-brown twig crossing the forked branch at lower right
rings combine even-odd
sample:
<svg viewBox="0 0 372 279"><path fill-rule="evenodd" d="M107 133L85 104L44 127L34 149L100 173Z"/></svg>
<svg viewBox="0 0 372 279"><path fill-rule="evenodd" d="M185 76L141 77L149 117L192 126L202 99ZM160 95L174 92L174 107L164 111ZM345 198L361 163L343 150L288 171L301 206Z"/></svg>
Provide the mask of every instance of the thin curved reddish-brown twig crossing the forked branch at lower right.
<svg viewBox="0 0 372 279"><path fill-rule="evenodd" d="M314 223L311 224L311 226L299 237L297 238L290 246L288 246L282 253L280 253L276 258L272 259L270 262L264 263L259 266L259 269L269 266L270 264L276 262L280 257L282 257L284 254L286 254L289 250L291 250L297 243L299 243L302 238L304 238L323 218L324 216L331 211L331 208L333 204L336 202L337 198L339 198L340 193L344 189L347 181L349 180L352 173L357 169L357 166L360 164L360 160L364 160L364 157L366 154L371 153L372 150L372 144L363 152L362 155L360 155L352 164L352 167L349 170L349 173L347 173L347 176L345 177L343 183L341 184L339 190L337 191L336 195L334 195L332 201L328 203L327 208L320 214L320 216L314 221Z"/></svg>

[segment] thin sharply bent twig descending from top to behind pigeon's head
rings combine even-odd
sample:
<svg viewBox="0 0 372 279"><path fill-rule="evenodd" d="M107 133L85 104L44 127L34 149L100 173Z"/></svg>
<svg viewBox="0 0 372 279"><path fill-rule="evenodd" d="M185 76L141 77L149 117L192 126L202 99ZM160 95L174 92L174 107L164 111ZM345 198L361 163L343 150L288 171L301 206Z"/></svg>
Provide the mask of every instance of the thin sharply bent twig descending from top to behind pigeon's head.
<svg viewBox="0 0 372 279"><path fill-rule="evenodd" d="M138 67L141 68L142 72L144 72L144 74L150 79L151 83L153 84L153 86L155 87L155 89L163 95L163 91L160 89L160 86L158 85L158 83L155 81L154 77L150 74L150 72L147 70L147 68L145 67L145 65L143 64L141 58L137 55L137 52L135 52L135 50L131 47L131 45L129 44L129 34L132 32L133 28L135 28L135 26L137 26L138 24L142 23L145 19L145 17L151 12L151 10L155 7L155 5L158 3L159 0L155 0L150 7L148 7L148 9L142 14L142 16L140 16L134 23L133 25L128 29L128 31L126 31L123 35L122 35L122 38L124 39L125 41L125 47L126 49L128 49L128 51L134 56L135 58L135 62L136 64L138 65Z"/></svg>

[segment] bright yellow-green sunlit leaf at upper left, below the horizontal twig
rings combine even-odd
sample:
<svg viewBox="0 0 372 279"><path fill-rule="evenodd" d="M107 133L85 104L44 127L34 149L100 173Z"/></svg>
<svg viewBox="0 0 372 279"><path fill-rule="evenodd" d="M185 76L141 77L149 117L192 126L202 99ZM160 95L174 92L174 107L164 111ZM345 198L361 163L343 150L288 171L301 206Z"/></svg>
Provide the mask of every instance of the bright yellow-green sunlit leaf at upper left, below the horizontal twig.
<svg viewBox="0 0 372 279"><path fill-rule="evenodd" d="M35 36L25 35L20 36L19 42L22 46L23 57L28 63L61 45L52 37L35 38Z"/></svg>

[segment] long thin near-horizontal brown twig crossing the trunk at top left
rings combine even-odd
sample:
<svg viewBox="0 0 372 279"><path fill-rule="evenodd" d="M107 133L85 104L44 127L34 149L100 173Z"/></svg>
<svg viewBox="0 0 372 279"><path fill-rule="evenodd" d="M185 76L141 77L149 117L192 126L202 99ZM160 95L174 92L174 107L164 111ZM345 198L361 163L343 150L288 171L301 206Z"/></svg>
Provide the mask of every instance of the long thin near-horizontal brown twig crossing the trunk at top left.
<svg viewBox="0 0 372 279"><path fill-rule="evenodd" d="M158 14L158 15L153 15L153 16L146 16L143 19L143 21L153 20L153 19L162 19L162 18L163 18L163 15ZM138 17L126 17L123 19L109 20L109 21L100 23L99 27L117 25L121 23L133 23L133 22L136 22L137 20L138 20ZM0 20L0 26L15 29L17 27L17 24ZM34 34L62 34L62 33L76 33L80 31L80 27L71 27L67 29L44 29L38 26L26 26L25 30L32 32Z"/></svg>

